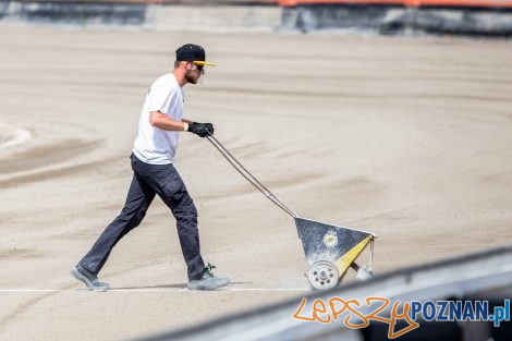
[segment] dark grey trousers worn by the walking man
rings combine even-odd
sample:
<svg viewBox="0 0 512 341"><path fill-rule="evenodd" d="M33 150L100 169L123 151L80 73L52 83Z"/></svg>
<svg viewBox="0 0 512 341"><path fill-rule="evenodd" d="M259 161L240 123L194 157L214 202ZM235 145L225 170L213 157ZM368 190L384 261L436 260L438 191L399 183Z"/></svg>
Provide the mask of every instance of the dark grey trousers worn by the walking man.
<svg viewBox="0 0 512 341"><path fill-rule="evenodd" d="M197 210L180 174L172 165L148 165L134 155L131 160L134 174L124 208L105 229L80 265L97 275L115 244L142 222L155 195L158 194L176 219L188 280L200 278L205 271L205 263L199 249Z"/></svg>

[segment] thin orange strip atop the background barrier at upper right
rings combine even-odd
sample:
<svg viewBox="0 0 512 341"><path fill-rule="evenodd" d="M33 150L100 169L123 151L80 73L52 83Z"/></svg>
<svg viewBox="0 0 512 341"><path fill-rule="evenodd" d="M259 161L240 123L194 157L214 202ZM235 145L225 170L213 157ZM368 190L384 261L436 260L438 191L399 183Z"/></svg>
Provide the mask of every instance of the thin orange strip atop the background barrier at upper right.
<svg viewBox="0 0 512 341"><path fill-rule="evenodd" d="M475 8L512 8L512 0L279 0L282 7L295 7L297 4L403 4L405 7L475 7Z"/></svg>

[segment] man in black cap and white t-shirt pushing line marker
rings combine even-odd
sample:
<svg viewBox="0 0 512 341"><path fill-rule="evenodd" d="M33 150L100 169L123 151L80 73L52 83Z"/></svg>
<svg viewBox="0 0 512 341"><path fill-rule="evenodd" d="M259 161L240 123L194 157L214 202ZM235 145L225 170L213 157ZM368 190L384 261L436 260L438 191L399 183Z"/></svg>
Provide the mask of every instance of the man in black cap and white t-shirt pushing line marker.
<svg viewBox="0 0 512 341"><path fill-rule="evenodd" d="M211 273L199 253L197 210L173 163L180 132L200 137L214 134L211 123L183 119L183 87L196 84L205 73L205 50L187 44L176 50L174 70L159 77L149 88L138 122L131 163L133 180L121 214L105 229L93 248L72 268L71 275L90 290L106 291L110 285L97 275L113 246L143 220L156 195L176 219L178 234L187 266L191 290L212 290L229 283Z"/></svg>

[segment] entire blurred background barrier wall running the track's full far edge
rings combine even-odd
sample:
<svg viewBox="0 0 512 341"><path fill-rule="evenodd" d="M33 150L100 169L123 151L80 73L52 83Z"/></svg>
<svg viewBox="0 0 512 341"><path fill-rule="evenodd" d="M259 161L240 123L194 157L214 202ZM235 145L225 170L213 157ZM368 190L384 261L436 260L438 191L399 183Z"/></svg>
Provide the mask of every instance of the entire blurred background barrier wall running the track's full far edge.
<svg viewBox="0 0 512 341"><path fill-rule="evenodd" d="M196 0L182 1L194 2ZM337 1L330 4L310 4L295 1L296 4L292 7L278 7L273 0L258 0L258 4L251 4L253 2L246 0L243 0L242 4L233 4L233 0L204 1L203 4L157 4L153 0L87 0L86 2L16 0L0 2L0 20L1 22L71 24L84 27L130 25L160 31L309 33L350 29L380 34L425 32L512 36L512 8L367 3L368 1L406 2L412 0L351 1L365 1L365 3L339 3ZM429 3L434 3L432 1L488 1L488 3L495 3L498 0L414 1L429 1ZM225 4L227 2L230 4ZM510 2L512 0L502 0L500 3L505 5Z"/></svg>

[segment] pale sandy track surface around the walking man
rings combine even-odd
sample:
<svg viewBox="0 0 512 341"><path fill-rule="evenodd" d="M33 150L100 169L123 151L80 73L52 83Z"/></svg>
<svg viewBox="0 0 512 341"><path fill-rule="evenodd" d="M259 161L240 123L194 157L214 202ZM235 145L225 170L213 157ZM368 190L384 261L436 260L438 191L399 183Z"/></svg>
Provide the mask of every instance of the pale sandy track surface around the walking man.
<svg viewBox="0 0 512 341"><path fill-rule="evenodd" d="M308 292L293 220L192 134L176 168L234 284L184 289L160 200L100 273L115 291L69 276L122 208L146 89L188 41L218 66L186 117L301 216L377 233L377 272L512 242L511 41L1 27L1 340L125 340Z"/></svg>

